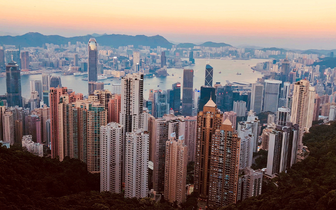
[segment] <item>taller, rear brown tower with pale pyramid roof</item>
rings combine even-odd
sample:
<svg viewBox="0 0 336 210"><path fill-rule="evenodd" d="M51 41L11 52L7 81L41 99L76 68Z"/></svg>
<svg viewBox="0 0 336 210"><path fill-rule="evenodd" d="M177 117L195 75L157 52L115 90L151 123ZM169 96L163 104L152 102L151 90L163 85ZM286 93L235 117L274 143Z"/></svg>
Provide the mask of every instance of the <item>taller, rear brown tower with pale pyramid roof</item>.
<svg viewBox="0 0 336 210"><path fill-rule="evenodd" d="M197 142L195 160L195 186L194 191L202 198L209 197L212 150L212 134L220 129L223 114L217 109L211 99L204 105L203 111L197 115ZM211 142L210 142L211 141Z"/></svg>

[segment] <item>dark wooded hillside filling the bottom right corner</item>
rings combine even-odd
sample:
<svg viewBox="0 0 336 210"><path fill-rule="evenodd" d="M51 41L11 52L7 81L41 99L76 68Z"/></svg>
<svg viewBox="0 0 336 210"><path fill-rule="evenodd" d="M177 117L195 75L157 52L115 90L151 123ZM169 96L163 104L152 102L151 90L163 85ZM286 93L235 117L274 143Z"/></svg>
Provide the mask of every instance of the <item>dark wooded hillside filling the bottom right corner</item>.
<svg viewBox="0 0 336 210"><path fill-rule="evenodd" d="M304 135L309 156L275 184L263 183L263 194L221 210L329 210L336 208L336 123L315 125Z"/></svg>

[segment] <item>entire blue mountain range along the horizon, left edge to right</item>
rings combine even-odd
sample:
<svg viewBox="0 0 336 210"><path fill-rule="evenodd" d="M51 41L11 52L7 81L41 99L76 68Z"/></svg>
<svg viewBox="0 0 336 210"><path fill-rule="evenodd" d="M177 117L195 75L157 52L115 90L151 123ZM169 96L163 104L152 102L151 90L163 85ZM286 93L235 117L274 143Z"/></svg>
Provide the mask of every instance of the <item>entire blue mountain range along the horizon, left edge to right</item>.
<svg viewBox="0 0 336 210"><path fill-rule="evenodd" d="M0 36L0 44L3 45L20 45L21 47L42 47L45 43L53 43L57 45L68 44L68 42L76 43L84 42L87 43L90 38L94 37L98 44L104 46L111 46L118 48L120 46L138 45L151 46L151 48L156 48L157 46L171 48L173 43L169 42L166 38L160 35L155 36L145 36L145 35L124 35L124 34L88 34L85 36L75 36L75 37L62 37L59 35L43 35L36 32L29 32L24 35L18 36ZM194 48L194 46L204 46L204 47L225 47L232 46L226 43L216 43L216 42L204 42L203 44L194 44L194 43L180 43L177 44L177 47L181 48ZM257 48L255 48L257 49ZM260 49L260 48L259 48ZM308 50L287 50L283 48L262 48L261 50L280 50L281 52L297 52L303 54L316 53L319 55L328 55L330 52L336 54L336 49L333 50L317 50L317 49L308 49Z"/></svg>

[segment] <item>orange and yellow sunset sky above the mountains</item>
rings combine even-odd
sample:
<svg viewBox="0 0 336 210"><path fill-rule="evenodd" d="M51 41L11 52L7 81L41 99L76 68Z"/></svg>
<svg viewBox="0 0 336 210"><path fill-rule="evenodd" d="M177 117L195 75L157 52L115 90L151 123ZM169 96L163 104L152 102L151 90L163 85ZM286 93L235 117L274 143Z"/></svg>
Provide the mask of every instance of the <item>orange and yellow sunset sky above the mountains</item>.
<svg viewBox="0 0 336 210"><path fill-rule="evenodd" d="M0 35L161 35L180 43L336 49L336 0L0 1Z"/></svg>

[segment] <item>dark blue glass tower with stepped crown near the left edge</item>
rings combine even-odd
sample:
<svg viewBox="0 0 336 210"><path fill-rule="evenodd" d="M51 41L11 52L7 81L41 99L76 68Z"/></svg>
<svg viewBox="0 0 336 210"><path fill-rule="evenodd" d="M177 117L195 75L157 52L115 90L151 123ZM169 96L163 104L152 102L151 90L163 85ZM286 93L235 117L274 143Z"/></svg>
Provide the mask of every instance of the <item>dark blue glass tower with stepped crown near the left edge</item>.
<svg viewBox="0 0 336 210"><path fill-rule="evenodd" d="M7 107L22 107L20 68L14 61L6 66Z"/></svg>

